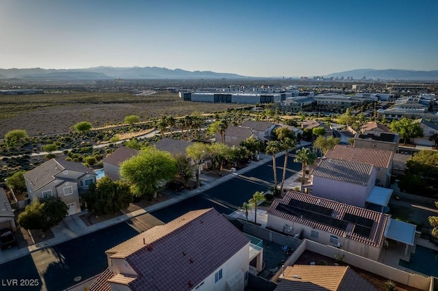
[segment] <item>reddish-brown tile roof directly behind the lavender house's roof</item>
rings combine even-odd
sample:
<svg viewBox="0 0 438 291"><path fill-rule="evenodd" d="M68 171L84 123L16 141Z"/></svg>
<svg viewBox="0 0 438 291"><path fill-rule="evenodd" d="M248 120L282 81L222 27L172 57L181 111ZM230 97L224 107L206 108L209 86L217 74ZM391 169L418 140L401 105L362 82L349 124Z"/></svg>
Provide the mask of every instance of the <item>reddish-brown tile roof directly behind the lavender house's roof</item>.
<svg viewBox="0 0 438 291"><path fill-rule="evenodd" d="M354 148L352 146L336 145L333 150L327 151L324 156L326 158L370 164L374 167L389 169L394 152L377 150L375 148Z"/></svg>

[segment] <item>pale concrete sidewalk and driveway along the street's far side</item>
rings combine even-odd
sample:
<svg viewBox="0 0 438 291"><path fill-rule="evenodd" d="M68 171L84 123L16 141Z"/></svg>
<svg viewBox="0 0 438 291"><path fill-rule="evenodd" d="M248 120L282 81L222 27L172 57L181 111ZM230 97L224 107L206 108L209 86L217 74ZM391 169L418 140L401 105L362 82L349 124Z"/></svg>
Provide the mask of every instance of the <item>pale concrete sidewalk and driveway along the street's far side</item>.
<svg viewBox="0 0 438 291"><path fill-rule="evenodd" d="M277 154L279 156L280 154ZM90 234L92 232L96 232L97 230L101 230L106 227L110 227L112 225L115 225L117 223L121 223L123 221L128 221L129 219L132 219L133 217L138 217L142 214L150 213L155 210L159 210L161 208L165 208L167 206L170 206L172 204L177 204L178 202L181 202L184 199L188 199L190 197L193 197L194 195L198 195L199 193L203 193L204 191L207 191L208 189L211 189L212 187L221 184L227 180L231 180L235 176L238 176L240 174L244 174L246 171L250 171L251 169L254 169L255 167L259 167L259 165L263 165L265 163L268 163L269 161L272 161L272 156L267 156L265 154L260 154L259 161L252 161L250 165L245 167L244 169L240 169L236 171L235 173L231 173L227 176L223 176L222 178L214 178L211 176L207 176L205 174L201 174L201 187L194 189L192 191L183 190L182 193L179 193L179 195L173 195L174 197L171 197L170 199L167 199L164 202L160 202L158 204L154 204L152 206L148 206L146 208L136 210L133 212L129 212L127 214L120 215L119 217L114 217L113 219L108 219L106 221L102 221L100 223L96 223L90 226L87 226L85 223L83 223L82 219L80 218L81 215L86 214L87 211L84 210L81 213L73 214L68 217L66 217L59 225L52 227L52 232L55 235L54 238L50 238L49 240L44 240L41 243L38 243L36 245L30 245L29 247L25 247L22 249L8 249L5 251L0 251L0 264L3 264L5 262L9 262L11 260L15 260L17 258L21 258L25 255L28 255L29 253L33 253L34 251L38 251L40 249L44 249L46 247L52 247L54 245L64 243L67 240L72 240L74 238L77 238L79 236L83 236L85 234Z"/></svg>

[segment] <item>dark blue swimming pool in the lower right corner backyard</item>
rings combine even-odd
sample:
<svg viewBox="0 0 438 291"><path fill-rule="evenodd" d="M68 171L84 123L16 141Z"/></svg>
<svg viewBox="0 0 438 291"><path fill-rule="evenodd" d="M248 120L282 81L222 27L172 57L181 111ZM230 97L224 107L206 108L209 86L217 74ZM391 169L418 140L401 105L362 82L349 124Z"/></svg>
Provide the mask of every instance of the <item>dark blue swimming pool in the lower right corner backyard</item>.
<svg viewBox="0 0 438 291"><path fill-rule="evenodd" d="M400 260L398 264L424 275L438 277L438 251L427 247L417 245L409 262Z"/></svg>

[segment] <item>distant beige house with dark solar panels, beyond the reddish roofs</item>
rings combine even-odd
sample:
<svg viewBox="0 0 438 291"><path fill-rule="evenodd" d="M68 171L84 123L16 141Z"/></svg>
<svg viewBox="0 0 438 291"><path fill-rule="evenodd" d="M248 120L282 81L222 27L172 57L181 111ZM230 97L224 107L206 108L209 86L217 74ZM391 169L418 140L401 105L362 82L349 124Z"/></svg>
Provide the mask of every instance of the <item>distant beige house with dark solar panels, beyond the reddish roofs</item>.
<svg viewBox="0 0 438 291"><path fill-rule="evenodd" d="M400 135L398 133L383 133L380 131L357 133L355 135L355 148L376 148L398 152Z"/></svg>

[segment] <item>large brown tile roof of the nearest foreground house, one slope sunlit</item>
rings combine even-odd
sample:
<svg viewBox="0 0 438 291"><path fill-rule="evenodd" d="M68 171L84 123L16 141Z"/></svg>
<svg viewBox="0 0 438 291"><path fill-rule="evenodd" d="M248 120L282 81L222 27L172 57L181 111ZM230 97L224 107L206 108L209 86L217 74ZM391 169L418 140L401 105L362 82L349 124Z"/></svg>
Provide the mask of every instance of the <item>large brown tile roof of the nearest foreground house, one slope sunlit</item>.
<svg viewBox="0 0 438 291"><path fill-rule="evenodd" d="M194 210L105 253L125 258L138 274L131 290L186 290L213 273L249 240L214 210ZM249 249L248 249L249 250Z"/></svg>

